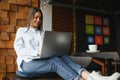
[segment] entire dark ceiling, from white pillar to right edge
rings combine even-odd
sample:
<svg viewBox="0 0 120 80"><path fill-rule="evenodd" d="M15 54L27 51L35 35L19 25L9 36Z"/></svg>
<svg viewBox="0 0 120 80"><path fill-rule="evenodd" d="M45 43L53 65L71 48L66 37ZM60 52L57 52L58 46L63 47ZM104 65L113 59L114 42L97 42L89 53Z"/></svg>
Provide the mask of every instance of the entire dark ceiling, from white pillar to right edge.
<svg viewBox="0 0 120 80"><path fill-rule="evenodd" d="M75 0L75 6L73 6L73 0L51 0L52 4L59 4L64 7L75 7L80 9L87 9L99 12L108 12L112 14L120 13L119 0ZM61 4L61 5L60 5Z"/></svg>

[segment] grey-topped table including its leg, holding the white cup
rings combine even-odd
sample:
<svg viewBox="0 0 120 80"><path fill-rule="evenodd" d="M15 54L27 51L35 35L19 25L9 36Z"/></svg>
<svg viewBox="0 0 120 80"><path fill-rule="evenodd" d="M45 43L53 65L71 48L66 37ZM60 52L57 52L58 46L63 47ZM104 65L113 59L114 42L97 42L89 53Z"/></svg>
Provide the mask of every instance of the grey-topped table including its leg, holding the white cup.
<svg viewBox="0 0 120 80"><path fill-rule="evenodd" d="M119 52L97 52L97 53L79 52L79 53L75 53L74 56L83 56L83 57L107 59L107 73L108 73L108 75L112 74L111 59L120 59L120 53Z"/></svg>

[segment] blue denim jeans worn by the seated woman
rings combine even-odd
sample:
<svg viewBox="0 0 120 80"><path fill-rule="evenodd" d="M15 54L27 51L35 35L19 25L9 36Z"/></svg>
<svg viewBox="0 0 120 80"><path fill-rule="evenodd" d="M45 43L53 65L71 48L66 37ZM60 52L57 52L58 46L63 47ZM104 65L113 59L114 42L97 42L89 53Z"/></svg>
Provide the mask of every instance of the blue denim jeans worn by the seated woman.
<svg viewBox="0 0 120 80"><path fill-rule="evenodd" d="M25 73L33 73L32 76L55 72L64 80L79 80L81 72L86 70L67 55L23 62L22 69Z"/></svg>

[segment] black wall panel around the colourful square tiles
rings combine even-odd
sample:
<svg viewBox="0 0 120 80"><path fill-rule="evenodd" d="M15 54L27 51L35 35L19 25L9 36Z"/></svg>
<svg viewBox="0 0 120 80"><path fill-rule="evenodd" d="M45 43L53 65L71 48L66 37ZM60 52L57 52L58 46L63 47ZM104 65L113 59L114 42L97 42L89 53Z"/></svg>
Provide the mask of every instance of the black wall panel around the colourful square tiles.
<svg viewBox="0 0 120 80"><path fill-rule="evenodd" d="M116 51L116 27L115 20L112 14L104 14L93 11L85 11L85 10L76 10L76 48L77 52L85 51L88 49L86 33L85 33L85 15L94 15L94 16L102 16L107 17L109 19L110 24L110 44L99 45L98 49L101 51Z"/></svg>

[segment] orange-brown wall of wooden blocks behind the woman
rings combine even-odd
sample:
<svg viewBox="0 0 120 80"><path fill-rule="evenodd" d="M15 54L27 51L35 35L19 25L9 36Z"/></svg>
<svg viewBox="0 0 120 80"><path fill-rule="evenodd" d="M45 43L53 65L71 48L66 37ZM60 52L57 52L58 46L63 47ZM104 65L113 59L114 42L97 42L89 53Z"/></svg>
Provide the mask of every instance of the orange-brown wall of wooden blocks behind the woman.
<svg viewBox="0 0 120 80"><path fill-rule="evenodd" d="M30 8L39 4L39 0L0 0L0 73L16 71L16 31L24 26Z"/></svg>

